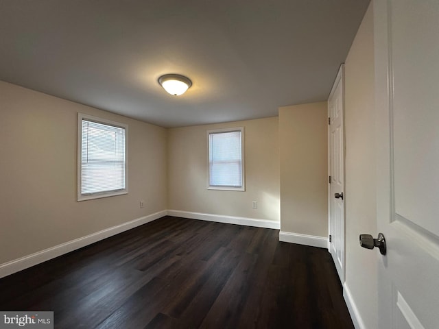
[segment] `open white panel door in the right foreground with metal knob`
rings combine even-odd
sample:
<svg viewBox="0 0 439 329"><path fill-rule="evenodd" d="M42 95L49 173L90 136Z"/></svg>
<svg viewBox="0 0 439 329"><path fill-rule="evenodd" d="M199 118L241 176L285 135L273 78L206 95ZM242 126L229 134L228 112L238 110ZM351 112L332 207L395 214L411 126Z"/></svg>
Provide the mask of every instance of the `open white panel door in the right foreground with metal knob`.
<svg viewBox="0 0 439 329"><path fill-rule="evenodd" d="M439 1L374 16L379 328L439 328Z"/></svg>

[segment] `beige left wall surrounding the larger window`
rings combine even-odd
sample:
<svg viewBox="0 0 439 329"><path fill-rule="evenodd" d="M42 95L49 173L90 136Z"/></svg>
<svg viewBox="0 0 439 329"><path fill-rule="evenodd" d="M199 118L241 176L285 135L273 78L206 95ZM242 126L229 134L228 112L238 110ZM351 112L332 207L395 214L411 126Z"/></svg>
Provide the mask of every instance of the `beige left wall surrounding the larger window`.
<svg viewBox="0 0 439 329"><path fill-rule="evenodd" d="M0 264L166 209L165 129L5 82L0 106ZM128 195L76 201L78 112L128 123Z"/></svg>

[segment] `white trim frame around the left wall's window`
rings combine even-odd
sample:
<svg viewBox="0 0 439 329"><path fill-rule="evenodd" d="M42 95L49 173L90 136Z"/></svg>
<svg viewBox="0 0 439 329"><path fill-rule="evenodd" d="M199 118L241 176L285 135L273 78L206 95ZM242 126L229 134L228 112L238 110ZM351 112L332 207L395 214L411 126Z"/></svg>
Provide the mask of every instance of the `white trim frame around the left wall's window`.
<svg viewBox="0 0 439 329"><path fill-rule="evenodd" d="M82 186L82 120L85 119L87 121L93 121L96 123L102 123L104 125L112 125L115 127L120 127L125 130L125 188L117 191L107 191L107 192L99 192L99 193L91 193L83 195L81 193ZM78 112L78 151L77 151L77 191L78 191L78 202L91 200L91 199L100 199L102 197L113 197L115 195L124 195L128 194L128 124L120 123L116 121L111 121L107 119L102 119L99 117L94 117L92 115L84 114Z"/></svg>

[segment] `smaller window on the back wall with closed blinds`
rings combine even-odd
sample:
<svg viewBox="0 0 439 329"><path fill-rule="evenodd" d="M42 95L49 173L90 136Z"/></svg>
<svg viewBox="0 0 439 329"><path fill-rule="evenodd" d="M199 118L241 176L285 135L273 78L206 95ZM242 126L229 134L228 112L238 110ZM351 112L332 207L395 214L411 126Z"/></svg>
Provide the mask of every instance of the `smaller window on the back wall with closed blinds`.
<svg viewBox="0 0 439 329"><path fill-rule="evenodd" d="M209 189L245 191L244 127L209 130Z"/></svg>

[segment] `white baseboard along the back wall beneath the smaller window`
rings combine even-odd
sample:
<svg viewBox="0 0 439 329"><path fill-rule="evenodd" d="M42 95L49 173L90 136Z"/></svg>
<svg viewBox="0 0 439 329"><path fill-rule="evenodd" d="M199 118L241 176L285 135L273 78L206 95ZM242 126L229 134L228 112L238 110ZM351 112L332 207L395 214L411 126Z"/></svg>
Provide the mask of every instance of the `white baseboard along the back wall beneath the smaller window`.
<svg viewBox="0 0 439 329"><path fill-rule="evenodd" d="M190 219L200 219L202 221L216 221L218 223L254 226L257 228L274 228L276 230L279 230L281 228L281 223L279 223L278 221L267 221L263 219L253 219L247 217L212 215L203 214L202 212L191 212L182 210L167 210L167 215Z"/></svg>

